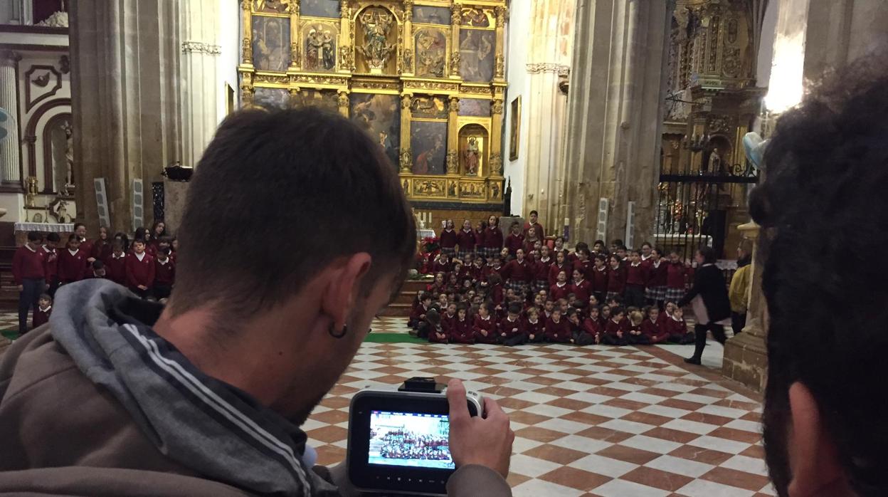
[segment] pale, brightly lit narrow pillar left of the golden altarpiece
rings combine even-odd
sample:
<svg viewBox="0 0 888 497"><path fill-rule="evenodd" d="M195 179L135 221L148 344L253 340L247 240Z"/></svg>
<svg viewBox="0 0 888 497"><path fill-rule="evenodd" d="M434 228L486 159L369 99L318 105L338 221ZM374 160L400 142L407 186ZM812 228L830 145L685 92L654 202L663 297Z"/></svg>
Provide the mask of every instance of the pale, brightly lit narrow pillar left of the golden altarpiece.
<svg viewBox="0 0 888 497"><path fill-rule="evenodd" d="M217 5L188 0L181 9L182 163L190 166L197 165L218 124Z"/></svg>

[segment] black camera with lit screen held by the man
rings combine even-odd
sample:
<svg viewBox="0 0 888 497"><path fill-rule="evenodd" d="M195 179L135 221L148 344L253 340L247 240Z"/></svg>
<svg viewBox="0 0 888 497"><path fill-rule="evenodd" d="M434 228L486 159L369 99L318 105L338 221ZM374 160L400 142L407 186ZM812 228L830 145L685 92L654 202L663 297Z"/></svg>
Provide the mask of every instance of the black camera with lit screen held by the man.
<svg viewBox="0 0 888 497"><path fill-rule="evenodd" d="M416 377L352 397L346 464L353 485L369 493L447 494L456 466L445 390L434 378ZM472 416L483 415L480 394L467 391L466 400Z"/></svg>

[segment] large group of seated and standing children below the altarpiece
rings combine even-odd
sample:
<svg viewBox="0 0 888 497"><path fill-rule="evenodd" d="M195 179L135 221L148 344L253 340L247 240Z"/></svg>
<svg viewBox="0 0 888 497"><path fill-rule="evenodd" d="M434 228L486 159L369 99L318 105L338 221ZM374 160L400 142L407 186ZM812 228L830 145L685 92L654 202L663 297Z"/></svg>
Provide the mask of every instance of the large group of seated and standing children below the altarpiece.
<svg viewBox="0 0 888 497"><path fill-rule="evenodd" d="M485 229L496 227L491 218ZM472 231L466 220L451 260L443 241L454 237L453 222L447 221L441 253L426 265L434 280L417 295L410 314L411 333L439 343L510 346L694 342L682 309L673 303L684 296L693 271L677 253L667 260L647 243L627 251L620 240L610 251L599 240L568 252L561 237L550 248L537 236L543 228L536 212L523 231L518 223L510 228L499 249L479 251L458 241Z"/></svg>

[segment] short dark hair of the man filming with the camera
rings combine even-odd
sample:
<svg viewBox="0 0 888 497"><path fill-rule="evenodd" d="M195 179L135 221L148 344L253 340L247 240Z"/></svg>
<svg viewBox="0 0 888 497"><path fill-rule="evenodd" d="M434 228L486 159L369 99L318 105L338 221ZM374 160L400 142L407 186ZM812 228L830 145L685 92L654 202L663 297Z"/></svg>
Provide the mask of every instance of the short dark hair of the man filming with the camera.
<svg viewBox="0 0 888 497"><path fill-rule="evenodd" d="M305 219L324 229L282 234ZM291 248L220 244L233 224ZM367 294L386 275L402 281L416 253L414 218L383 150L357 124L318 108L226 117L195 167L179 233L173 316L207 302L253 316L353 253L372 258L361 278Z"/></svg>

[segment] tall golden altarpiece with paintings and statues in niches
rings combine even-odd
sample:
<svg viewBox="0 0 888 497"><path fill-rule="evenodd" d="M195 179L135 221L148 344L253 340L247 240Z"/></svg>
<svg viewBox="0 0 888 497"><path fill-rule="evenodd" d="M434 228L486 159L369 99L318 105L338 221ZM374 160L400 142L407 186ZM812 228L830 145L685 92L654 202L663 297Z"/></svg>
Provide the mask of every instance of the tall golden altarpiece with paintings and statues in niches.
<svg viewBox="0 0 888 497"><path fill-rule="evenodd" d="M242 0L244 106L320 106L410 200L502 204L504 0Z"/></svg>

